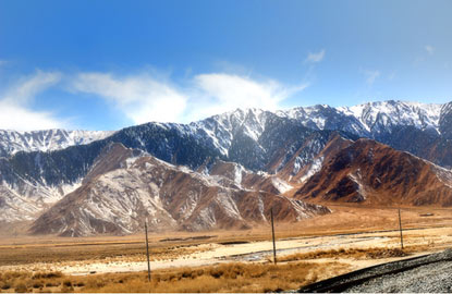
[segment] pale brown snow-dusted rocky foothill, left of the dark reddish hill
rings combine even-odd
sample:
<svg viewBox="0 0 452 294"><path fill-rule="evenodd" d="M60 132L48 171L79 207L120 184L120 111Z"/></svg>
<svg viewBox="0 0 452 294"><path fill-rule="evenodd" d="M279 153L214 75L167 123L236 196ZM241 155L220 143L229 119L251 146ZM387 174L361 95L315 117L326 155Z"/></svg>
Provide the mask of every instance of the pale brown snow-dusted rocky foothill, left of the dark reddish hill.
<svg viewBox="0 0 452 294"><path fill-rule="evenodd" d="M237 179L229 186L224 180L112 144L84 184L39 217L30 232L127 234L142 231L146 219L152 231L243 229L267 222L270 209L280 221L330 212L259 188L244 189Z"/></svg>

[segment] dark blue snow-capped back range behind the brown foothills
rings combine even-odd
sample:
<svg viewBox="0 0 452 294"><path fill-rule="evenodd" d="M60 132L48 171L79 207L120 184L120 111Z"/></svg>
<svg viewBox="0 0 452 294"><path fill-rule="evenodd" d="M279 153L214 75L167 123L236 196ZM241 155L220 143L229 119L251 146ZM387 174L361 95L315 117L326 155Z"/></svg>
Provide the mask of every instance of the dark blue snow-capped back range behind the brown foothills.
<svg viewBox="0 0 452 294"><path fill-rule="evenodd" d="M4 221L24 219L24 216L35 218L48 205L87 181L95 162L112 143L205 175L220 176L225 188L255 192L264 188L279 194L307 183L328 163L333 151L346 148L359 137L449 169L452 167L451 125L452 102L402 101L341 108L314 106L277 112L237 109L190 124L147 123L113 134L99 133L105 138L100 136L96 140L96 136L73 139L75 145L69 148L15 152L1 158L0 210L9 211L3 213L9 216ZM57 146L59 140L51 137L46 142ZM91 139L89 144L77 145ZM28 212L22 213L21 207Z"/></svg>

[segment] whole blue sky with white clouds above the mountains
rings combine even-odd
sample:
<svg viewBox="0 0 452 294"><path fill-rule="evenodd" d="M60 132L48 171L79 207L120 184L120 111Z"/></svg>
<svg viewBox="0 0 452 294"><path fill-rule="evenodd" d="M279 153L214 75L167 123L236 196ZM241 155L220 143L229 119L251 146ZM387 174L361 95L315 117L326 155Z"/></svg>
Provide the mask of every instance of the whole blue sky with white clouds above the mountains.
<svg viewBox="0 0 452 294"><path fill-rule="evenodd" d="M452 100L452 1L0 0L0 128Z"/></svg>

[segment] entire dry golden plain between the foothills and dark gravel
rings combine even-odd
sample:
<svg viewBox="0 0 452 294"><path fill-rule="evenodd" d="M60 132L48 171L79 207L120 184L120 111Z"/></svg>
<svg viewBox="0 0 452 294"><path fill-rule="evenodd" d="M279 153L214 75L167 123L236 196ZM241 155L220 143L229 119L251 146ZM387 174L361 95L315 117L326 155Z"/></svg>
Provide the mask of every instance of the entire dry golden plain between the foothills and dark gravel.
<svg viewBox="0 0 452 294"><path fill-rule="evenodd" d="M269 292L452 245L452 210L330 206L333 213L279 223L277 266L269 228L144 235L0 238L0 292ZM11 230L10 230L11 231ZM0 232L1 234L1 232Z"/></svg>

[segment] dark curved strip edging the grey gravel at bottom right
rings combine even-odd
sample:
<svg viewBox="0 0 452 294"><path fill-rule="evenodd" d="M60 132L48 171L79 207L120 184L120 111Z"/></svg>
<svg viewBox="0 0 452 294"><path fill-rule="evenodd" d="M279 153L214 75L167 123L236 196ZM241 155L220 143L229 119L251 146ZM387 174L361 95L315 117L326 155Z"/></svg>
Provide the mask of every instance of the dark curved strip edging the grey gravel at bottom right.
<svg viewBox="0 0 452 294"><path fill-rule="evenodd" d="M442 253L429 254L404 260L392 261L383 265L372 266L365 269L352 271L331 279L316 282L301 287L298 293L338 293L345 292L347 289L362 284L368 280L387 274L394 274L405 270L411 270L420 266L440 261L452 261L452 249Z"/></svg>

